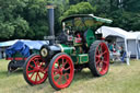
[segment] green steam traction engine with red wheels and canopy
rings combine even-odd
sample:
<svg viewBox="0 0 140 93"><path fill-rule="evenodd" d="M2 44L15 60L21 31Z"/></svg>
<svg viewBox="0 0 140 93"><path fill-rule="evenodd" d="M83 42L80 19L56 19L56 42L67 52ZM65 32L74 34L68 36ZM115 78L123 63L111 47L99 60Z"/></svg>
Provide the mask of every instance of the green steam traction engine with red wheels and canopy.
<svg viewBox="0 0 140 93"><path fill-rule="evenodd" d="M49 8L49 45L43 45L40 55L27 58L23 75L31 84L40 84L48 78L51 86L60 90L70 85L74 70L90 68L95 77L108 72L109 51L101 34L92 30L94 23L112 23L93 14L71 15L62 20L62 32L54 36L54 10Z"/></svg>

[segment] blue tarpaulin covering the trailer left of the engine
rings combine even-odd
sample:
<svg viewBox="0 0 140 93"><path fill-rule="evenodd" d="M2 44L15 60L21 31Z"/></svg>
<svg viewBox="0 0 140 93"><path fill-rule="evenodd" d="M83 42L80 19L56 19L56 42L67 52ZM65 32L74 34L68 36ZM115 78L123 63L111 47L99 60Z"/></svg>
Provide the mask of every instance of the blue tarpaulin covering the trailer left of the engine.
<svg viewBox="0 0 140 93"><path fill-rule="evenodd" d="M5 55L12 57L15 53L20 53L24 57L32 55L30 49L39 50L44 44L49 44L45 40L18 40L14 45L5 49Z"/></svg>

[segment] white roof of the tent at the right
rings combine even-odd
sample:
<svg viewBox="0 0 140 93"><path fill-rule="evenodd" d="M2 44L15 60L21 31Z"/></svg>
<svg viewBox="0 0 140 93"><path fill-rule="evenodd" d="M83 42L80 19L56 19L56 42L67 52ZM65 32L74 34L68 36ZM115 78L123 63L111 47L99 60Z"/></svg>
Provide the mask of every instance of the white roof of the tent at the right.
<svg viewBox="0 0 140 93"><path fill-rule="evenodd" d="M140 32L127 32L119 27L102 26L97 30L98 33L103 33L103 37L119 36L126 39L137 39Z"/></svg>

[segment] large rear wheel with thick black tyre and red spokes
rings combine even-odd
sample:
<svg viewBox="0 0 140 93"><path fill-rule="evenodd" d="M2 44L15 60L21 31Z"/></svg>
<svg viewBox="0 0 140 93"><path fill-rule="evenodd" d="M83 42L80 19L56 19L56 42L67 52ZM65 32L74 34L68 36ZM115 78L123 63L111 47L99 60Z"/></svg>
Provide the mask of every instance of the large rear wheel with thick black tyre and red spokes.
<svg viewBox="0 0 140 93"><path fill-rule="evenodd" d="M109 51L107 45L102 40L96 40L90 47L89 67L96 77L104 75L109 68Z"/></svg>

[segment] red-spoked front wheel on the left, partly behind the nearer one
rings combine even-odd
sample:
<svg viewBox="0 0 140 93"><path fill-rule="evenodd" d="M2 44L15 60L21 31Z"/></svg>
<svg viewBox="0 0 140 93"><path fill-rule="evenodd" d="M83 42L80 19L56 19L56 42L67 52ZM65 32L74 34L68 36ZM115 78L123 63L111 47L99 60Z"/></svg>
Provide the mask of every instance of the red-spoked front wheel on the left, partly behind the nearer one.
<svg viewBox="0 0 140 93"><path fill-rule="evenodd" d="M39 55L32 55L27 58L23 67L23 75L25 81L31 85L45 82L48 77L47 67Z"/></svg>

